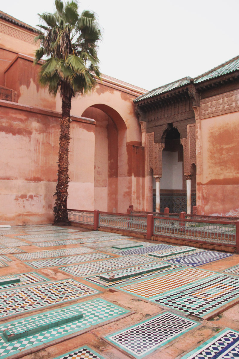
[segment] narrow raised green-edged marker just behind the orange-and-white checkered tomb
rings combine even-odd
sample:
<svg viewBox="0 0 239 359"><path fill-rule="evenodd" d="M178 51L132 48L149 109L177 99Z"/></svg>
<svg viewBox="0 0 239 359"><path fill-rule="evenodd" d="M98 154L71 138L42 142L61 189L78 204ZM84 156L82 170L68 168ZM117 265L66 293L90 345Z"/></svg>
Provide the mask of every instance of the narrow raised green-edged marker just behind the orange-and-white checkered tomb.
<svg viewBox="0 0 239 359"><path fill-rule="evenodd" d="M114 282L119 279L125 279L125 278L133 278L136 275L144 274L153 272L156 270L169 268L170 265L166 262L157 262L150 264L142 264L137 267L128 268L128 269L119 269L113 272L106 272L103 274L100 274L100 279L104 279L108 282Z"/></svg>

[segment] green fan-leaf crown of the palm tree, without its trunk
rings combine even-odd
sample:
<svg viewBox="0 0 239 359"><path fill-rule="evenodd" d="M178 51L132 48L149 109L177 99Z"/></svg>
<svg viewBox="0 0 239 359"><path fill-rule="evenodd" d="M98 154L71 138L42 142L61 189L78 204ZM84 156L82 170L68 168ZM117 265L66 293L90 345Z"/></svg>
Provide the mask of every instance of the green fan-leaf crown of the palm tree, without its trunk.
<svg viewBox="0 0 239 359"><path fill-rule="evenodd" d="M101 28L95 13L78 14L76 1L55 1L56 12L39 14L42 33L35 63L44 60L39 82L52 95L75 96L89 93L100 78L98 42Z"/></svg>

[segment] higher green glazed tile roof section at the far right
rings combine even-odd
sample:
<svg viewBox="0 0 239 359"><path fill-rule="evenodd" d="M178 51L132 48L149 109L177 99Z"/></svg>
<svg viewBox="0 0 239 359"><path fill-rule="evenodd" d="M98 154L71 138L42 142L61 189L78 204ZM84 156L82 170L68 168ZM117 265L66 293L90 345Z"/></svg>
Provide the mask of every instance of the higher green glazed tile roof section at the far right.
<svg viewBox="0 0 239 359"><path fill-rule="evenodd" d="M214 69L211 69L210 71L197 76L193 82L197 84L203 81L214 79L221 75L229 74L236 70L239 70L239 56L233 57L233 59L224 62L224 64L214 67Z"/></svg>

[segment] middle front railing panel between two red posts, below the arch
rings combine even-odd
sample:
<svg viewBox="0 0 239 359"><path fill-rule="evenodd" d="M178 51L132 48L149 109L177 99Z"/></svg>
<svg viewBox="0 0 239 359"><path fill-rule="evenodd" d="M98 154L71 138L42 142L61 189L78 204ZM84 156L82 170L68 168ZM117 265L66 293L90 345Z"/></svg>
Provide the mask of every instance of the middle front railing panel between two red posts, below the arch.
<svg viewBox="0 0 239 359"><path fill-rule="evenodd" d="M129 232L146 233L147 216L100 212L99 227L121 229Z"/></svg>

